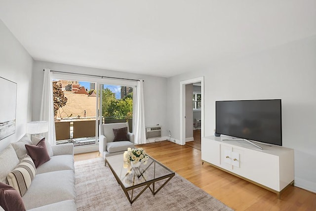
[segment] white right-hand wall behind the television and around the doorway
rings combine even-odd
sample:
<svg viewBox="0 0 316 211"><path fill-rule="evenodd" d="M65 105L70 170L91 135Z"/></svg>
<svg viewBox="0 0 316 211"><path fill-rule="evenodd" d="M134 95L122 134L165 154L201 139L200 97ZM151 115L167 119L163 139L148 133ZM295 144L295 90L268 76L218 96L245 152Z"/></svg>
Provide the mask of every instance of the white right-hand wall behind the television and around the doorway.
<svg viewBox="0 0 316 211"><path fill-rule="evenodd" d="M316 192L316 36L168 79L168 128L179 139L179 82L204 76L205 136L215 100L282 99L283 146L295 150L295 185Z"/></svg>

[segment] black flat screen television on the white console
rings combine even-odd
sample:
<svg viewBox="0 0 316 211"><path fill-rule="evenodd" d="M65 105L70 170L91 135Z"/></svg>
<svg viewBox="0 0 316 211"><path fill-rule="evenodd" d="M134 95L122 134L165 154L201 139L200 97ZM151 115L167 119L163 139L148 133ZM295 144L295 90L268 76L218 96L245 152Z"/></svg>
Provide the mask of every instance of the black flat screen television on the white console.
<svg viewBox="0 0 316 211"><path fill-rule="evenodd" d="M216 133L282 146L281 100L216 101Z"/></svg>

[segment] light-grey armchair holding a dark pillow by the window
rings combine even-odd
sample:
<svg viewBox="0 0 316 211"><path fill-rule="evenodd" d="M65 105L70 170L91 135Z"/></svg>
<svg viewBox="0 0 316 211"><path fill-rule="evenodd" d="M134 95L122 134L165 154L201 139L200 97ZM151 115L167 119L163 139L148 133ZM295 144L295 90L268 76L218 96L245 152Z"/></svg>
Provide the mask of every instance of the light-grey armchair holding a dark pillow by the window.
<svg viewBox="0 0 316 211"><path fill-rule="evenodd" d="M114 132L113 129L127 127L129 131L128 123L110 123L99 125L99 153L102 154L105 159L108 156L123 154L127 151L127 148L134 148L134 134L127 132L127 139L122 141L113 141Z"/></svg>

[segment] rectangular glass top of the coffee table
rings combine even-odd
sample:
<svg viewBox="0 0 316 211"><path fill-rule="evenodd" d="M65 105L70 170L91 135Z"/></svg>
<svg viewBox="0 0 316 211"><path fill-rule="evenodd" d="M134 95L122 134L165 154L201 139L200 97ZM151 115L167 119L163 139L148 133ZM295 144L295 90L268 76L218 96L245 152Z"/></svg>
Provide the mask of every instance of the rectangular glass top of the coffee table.
<svg viewBox="0 0 316 211"><path fill-rule="evenodd" d="M149 156L147 164L132 168L128 162L123 161L123 155L115 155L106 158L114 176L125 189L132 189L153 180L167 178L174 175L174 171L168 169L157 160Z"/></svg>

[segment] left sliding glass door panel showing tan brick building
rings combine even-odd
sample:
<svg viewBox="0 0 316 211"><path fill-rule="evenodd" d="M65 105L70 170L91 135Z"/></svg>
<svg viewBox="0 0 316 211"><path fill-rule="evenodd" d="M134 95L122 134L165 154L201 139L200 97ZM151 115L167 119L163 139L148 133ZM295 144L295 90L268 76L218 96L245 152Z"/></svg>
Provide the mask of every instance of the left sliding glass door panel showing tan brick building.
<svg viewBox="0 0 316 211"><path fill-rule="evenodd" d="M52 84L56 143L95 145L95 83L57 79Z"/></svg>

